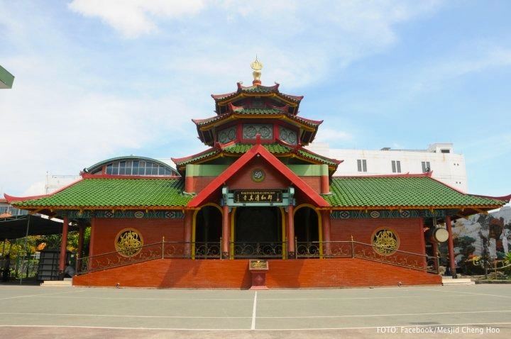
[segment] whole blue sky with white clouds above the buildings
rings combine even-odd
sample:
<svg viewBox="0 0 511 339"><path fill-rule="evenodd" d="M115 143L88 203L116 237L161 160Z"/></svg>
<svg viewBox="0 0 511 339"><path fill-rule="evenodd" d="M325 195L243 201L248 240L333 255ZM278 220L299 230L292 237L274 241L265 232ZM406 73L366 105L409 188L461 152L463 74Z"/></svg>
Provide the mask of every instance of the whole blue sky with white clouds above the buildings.
<svg viewBox="0 0 511 339"><path fill-rule="evenodd" d="M0 0L0 193L109 157L182 157L209 94L304 95L331 148L451 142L471 193L511 193L509 1Z"/></svg>

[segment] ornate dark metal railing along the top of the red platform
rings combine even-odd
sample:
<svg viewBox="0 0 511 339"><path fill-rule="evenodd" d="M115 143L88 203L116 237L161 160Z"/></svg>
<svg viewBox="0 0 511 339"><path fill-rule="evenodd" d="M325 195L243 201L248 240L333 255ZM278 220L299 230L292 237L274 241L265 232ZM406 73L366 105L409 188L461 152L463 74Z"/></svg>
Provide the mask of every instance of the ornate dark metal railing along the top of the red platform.
<svg viewBox="0 0 511 339"><path fill-rule="evenodd" d="M361 248L362 247L362 248ZM371 248L366 252L363 247ZM279 242L230 242L229 248L235 258L285 258L286 243ZM383 255L375 248L388 250L384 246L361 243L355 240L341 241L295 241L295 254L297 258L331 258L331 257L358 257L365 260L385 262L390 265L419 269L426 272L438 273L439 258L422 253L403 250L392 250L392 253ZM89 257L77 257L77 274L95 272L103 269L121 267L164 258L202 258L222 259L221 241L217 242L180 242L162 241L130 248L133 255L126 255L126 251L105 252ZM412 257L414 256L414 257Z"/></svg>

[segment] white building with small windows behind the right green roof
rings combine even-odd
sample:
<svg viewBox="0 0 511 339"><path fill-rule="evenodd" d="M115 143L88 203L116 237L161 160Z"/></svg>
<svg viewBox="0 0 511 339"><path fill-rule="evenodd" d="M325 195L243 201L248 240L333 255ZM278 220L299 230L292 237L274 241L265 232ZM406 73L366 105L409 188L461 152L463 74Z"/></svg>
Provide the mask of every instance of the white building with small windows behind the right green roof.
<svg viewBox="0 0 511 339"><path fill-rule="evenodd" d="M325 157L344 160L334 175L417 174L428 170L432 177L466 192L465 157L454 153L451 143L434 143L427 150L343 150L326 143L312 143L308 150Z"/></svg>

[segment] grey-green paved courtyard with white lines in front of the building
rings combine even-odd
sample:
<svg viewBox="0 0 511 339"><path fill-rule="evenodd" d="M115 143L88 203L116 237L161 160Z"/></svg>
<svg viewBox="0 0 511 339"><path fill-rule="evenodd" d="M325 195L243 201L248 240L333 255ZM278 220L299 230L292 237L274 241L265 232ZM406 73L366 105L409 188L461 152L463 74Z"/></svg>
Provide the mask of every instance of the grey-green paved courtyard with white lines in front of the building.
<svg viewBox="0 0 511 339"><path fill-rule="evenodd" d="M0 285L0 336L511 338L510 304L506 284L257 292Z"/></svg>

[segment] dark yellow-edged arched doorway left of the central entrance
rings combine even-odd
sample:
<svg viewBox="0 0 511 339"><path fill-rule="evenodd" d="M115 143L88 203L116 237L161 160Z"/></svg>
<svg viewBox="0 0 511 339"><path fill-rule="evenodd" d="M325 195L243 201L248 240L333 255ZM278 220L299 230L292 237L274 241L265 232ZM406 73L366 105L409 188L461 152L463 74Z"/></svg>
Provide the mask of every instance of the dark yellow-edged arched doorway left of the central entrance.
<svg viewBox="0 0 511 339"><path fill-rule="evenodd" d="M222 214L219 206L202 207L195 215L194 257L218 257L220 254Z"/></svg>

